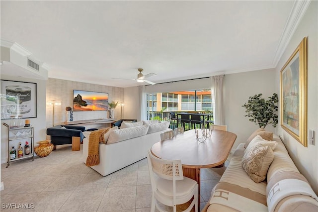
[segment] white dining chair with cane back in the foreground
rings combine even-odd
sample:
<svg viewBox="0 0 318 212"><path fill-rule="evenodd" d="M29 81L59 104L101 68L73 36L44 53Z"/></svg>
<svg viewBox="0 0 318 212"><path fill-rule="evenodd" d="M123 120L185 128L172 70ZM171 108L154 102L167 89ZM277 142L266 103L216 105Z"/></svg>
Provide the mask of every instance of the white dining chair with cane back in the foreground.
<svg viewBox="0 0 318 212"><path fill-rule="evenodd" d="M160 212L166 210L159 206L159 202L165 206L173 207L187 203L192 198L190 206L184 212L190 212L194 206L198 212L198 183L191 178L184 177L181 160L163 160L148 151L148 168L152 186L151 211L157 208ZM156 177L155 177L156 173Z"/></svg>

